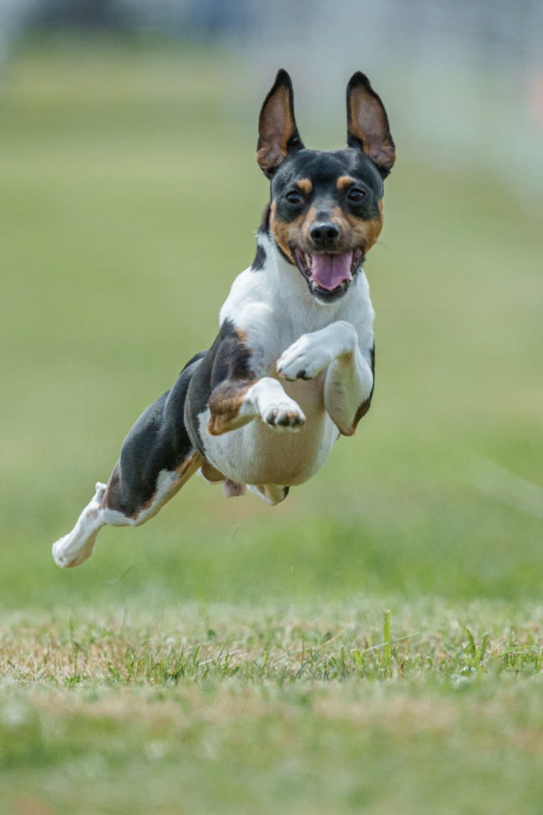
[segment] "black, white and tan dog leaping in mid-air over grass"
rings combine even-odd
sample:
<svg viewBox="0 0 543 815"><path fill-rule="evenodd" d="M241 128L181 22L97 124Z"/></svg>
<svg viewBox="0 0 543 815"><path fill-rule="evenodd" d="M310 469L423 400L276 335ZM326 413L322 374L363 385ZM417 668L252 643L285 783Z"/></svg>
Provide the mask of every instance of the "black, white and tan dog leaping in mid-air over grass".
<svg viewBox="0 0 543 815"><path fill-rule="evenodd" d="M100 529L140 526L197 471L227 497L279 504L351 436L374 390L374 310L362 262L383 226L396 148L360 72L347 86L348 147L304 148L280 70L259 119L256 160L270 200L252 265L235 280L209 350L125 438L107 484L53 546L78 566Z"/></svg>

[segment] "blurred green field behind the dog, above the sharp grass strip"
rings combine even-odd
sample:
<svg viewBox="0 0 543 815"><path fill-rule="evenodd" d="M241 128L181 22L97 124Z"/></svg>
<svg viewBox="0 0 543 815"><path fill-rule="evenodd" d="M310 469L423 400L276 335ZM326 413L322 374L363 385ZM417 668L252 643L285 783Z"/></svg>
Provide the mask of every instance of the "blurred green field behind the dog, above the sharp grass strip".
<svg viewBox="0 0 543 815"><path fill-rule="evenodd" d="M50 29L6 38L0 86L5 610L538 597L542 152L526 64L509 55L504 87L490 48L477 70L449 69L445 52L415 59L404 43L402 68L391 42L379 53L366 39L332 66L288 42L259 59L260 29L204 42ZM281 64L309 146L344 144L357 68L391 119L398 160L366 262L372 410L277 509L193 478L155 520L104 529L90 562L61 571L50 545L139 412L211 343L252 260L268 196L256 121Z"/></svg>

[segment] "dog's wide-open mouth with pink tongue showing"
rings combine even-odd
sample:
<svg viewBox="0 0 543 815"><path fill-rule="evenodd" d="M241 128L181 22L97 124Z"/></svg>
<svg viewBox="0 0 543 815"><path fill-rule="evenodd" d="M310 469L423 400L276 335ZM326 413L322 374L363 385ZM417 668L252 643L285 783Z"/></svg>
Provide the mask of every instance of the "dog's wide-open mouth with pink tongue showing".
<svg viewBox="0 0 543 815"><path fill-rule="evenodd" d="M335 300L343 295L362 261L362 249L341 254L302 252L293 249L296 266L309 284L309 290L323 300Z"/></svg>

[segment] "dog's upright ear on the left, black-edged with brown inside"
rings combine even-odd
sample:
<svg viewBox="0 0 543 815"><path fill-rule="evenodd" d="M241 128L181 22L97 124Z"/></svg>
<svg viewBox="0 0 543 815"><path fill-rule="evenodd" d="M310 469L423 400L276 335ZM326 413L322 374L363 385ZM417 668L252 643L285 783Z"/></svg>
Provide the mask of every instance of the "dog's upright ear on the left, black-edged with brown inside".
<svg viewBox="0 0 543 815"><path fill-rule="evenodd" d="M274 87L264 100L258 120L256 161L262 172L271 178L289 152L301 150L294 118L294 93L291 77L282 68L275 77Z"/></svg>

